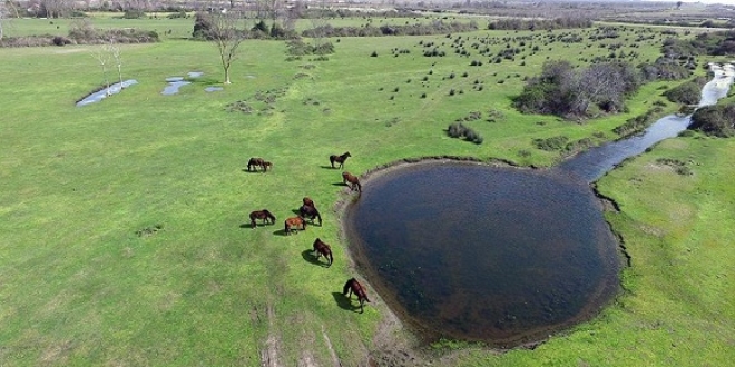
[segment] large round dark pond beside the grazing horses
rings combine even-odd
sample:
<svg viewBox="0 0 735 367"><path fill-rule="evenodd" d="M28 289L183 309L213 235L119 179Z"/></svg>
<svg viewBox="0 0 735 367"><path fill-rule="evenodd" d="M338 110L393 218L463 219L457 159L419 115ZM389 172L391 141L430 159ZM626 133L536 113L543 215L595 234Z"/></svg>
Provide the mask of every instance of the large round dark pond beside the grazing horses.
<svg viewBox="0 0 735 367"><path fill-rule="evenodd" d="M617 289L617 244L588 185L548 171L421 163L347 211L371 285L424 336L536 340Z"/></svg>

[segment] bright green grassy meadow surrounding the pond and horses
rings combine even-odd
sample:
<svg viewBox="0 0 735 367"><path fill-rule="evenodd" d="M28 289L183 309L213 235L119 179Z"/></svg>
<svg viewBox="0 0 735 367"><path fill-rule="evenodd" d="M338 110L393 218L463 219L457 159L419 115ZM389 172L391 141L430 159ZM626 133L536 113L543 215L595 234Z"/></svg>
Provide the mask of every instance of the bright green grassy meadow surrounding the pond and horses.
<svg viewBox="0 0 735 367"><path fill-rule="evenodd" d="M53 22L14 20L7 36L55 34L57 26L66 34L68 21ZM122 77L138 83L101 102L75 106L105 83L92 57L99 47L0 49L0 365L722 366L735 357L728 140L672 139L598 184L621 208L607 218L633 257L624 291L594 320L532 350L449 341L415 349L378 295L362 315L339 295L360 276L336 211L352 197L330 155L350 151L345 170L356 175L442 155L551 166L561 153L535 148L533 139L601 143L655 101L676 109L660 96L663 82L644 86L628 113L585 123L511 107L546 60L584 65L621 39L545 44L547 32L513 31L341 38L321 61L286 61L283 41L251 40L233 83L222 86L216 48L185 39L192 19L95 22L173 30L160 43L122 46ZM641 29L628 27L623 38ZM553 33L561 32L589 31ZM517 37L529 39L513 61L491 62L471 47L521 48ZM661 40L656 33L617 51L653 61ZM462 41L470 56L452 47ZM447 56L424 57L431 42ZM482 66L470 66L476 59ZM190 71L204 75L161 95L166 78ZM483 143L445 135L472 112L482 118L464 123ZM249 157L273 170L247 172ZM685 161L694 175L676 175L657 158ZM324 225L284 236L283 220L304 196ZM251 229L247 215L263 208L276 224ZM329 269L308 255L317 237L335 254Z"/></svg>

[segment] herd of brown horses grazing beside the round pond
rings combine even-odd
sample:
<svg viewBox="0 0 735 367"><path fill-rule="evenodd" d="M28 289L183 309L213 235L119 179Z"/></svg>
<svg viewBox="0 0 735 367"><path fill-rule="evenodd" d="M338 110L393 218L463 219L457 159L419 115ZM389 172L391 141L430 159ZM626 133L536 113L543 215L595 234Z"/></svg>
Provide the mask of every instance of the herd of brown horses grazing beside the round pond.
<svg viewBox="0 0 735 367"><path fill-rule="evenodd" d="M339 163L339 168L343 169L344 162L349 157L352 157L349 151L340 156L332 155L330 156L330 165L332 168L336 168L334 167L334 163ZM251 158L248 160L247 171L252 171L251 168L254 171L257 171L258 167L263 172L266 172L268 168L273 168L273 163L264 160L263 158ZM362 186L360 185L360 179L357 176L354 176L347 171L343 171L342 184L350 186L352 191L357 190L357 192L362 192ZM261 222L264 225L275 225L276 221L276 217L271 211L268 211L268 209L252 211L249 218L251 228L253 229L257 227L257 220L261 220ZM308 197L304 197L302 199L302 206L298 208L298 216L286 218L284 221L285 235L291 235L296 230L305 230L307 219L311 225L314 225L314 220L316 220L318 226L322 226L322 215L316 209L314 200ZM312 245L312 254L316 257L316 261L318 261L318 259L323 256L327 261L326 267L329 268L332 266L332 262L334 262L334 257L332 256L332 247L329 244L324 242L321 238L316 238ZM349 279L342 288L342 295L346 296L350 300L352 300L352 294L355 294L357 297L357 301L360 302L360 313L362 314L363 305L365 302L370 302L370 299L367 299L367 291L365 287L361 285L360 281L357 281L355 278Z"/></svg>

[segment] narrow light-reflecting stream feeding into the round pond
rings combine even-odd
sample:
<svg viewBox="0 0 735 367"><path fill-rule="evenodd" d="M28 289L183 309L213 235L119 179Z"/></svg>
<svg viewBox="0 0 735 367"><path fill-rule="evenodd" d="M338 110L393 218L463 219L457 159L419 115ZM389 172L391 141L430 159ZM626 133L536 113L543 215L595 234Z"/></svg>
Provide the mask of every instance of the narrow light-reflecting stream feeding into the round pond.
<svg viewBox="0 0 735 367"><path fill-rule="evenodd" d="M702 89L699 107L715 105L727 96L733 83L732 66L710 66L714 78ZM585 151L562 162L558 168L594 182L628 157L643 153L664 139L676 137L692 123L692 115L669 115L651 125L644 133Z"/></svg>

